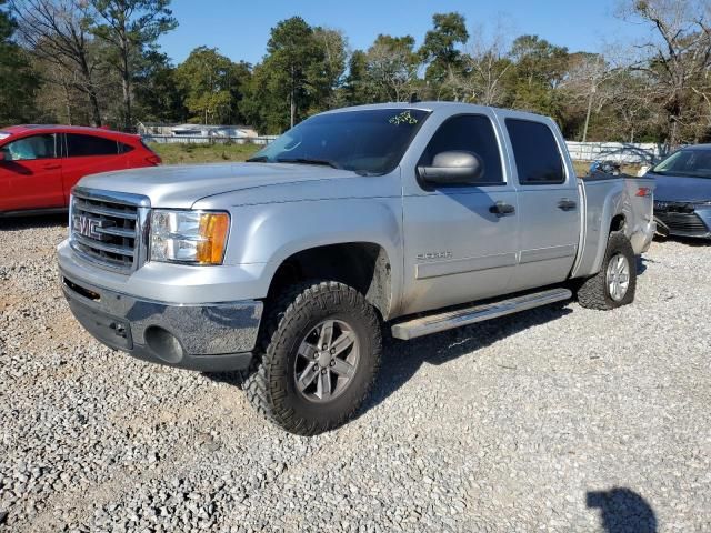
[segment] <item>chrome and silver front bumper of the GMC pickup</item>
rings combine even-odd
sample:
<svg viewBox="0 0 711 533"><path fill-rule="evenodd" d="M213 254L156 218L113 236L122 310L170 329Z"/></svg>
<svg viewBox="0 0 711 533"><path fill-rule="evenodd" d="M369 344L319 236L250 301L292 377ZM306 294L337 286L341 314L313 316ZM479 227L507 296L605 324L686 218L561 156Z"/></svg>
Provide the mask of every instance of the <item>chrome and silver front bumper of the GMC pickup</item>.
<svg viewBox="0 0 711 533"><path fill-rule="evenodd" d="M261 321L260 301L179 304L87 283L63 269L69 306L94 338L138 359L203 372L249 366Z"/></svg>

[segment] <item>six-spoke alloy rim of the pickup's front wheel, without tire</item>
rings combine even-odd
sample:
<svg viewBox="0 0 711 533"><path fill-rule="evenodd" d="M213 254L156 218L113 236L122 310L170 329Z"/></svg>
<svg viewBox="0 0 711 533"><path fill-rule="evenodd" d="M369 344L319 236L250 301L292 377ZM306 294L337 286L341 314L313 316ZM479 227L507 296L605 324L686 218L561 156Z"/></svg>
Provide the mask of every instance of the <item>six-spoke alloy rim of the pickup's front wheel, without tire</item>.
<svg viewBox="0 0 711 533"><path fill-rule="evenodd" d="M324 320L301 341L294 364L297 391L312 402L339 396L356 375L358 338L342 320Z"/></svg>

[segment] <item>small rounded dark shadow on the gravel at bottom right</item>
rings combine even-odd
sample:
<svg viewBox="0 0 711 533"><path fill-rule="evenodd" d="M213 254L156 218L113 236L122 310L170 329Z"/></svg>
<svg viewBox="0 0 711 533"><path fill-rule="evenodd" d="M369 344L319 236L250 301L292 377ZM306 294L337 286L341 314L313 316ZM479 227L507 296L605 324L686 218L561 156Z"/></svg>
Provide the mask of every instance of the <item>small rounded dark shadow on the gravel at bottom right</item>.
<svg viewBox="0 0 711 533"><path fill-rule="evenodd" d="M657 533L652 506L630 489L591 491L585 503L588 509L600 510L600 522L605 533Z"/></svg>

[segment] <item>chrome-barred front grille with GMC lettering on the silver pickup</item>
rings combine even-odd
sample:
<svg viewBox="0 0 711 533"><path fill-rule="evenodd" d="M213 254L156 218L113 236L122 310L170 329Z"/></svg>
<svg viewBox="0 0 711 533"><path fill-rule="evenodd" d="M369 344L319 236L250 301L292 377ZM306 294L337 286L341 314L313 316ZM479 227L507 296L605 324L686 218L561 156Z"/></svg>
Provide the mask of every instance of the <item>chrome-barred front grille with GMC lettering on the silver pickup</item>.
<svg viewBox="0 0 711 533"><path fill-rule="evenodd" d="M140 198L140 197L139 197ZM140 201L74 189L71 245L84 259L111 270L137 268L141 241Z"/></svg>

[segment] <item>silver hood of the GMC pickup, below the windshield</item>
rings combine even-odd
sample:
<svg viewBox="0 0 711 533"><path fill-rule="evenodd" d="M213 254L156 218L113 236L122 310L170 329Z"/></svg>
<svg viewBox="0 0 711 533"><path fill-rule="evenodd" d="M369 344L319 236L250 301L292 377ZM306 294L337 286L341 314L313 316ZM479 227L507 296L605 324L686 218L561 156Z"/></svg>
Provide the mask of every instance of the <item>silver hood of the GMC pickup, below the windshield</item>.
<svg viewBox="0 0 711 533"><path fill-rule="evenodd" d="M214 194L354 175L357 174L349 170L314 164L221 163L106 172L86 177L78 185L143 194L154 208L189 209L198 200Z"/></svg>

